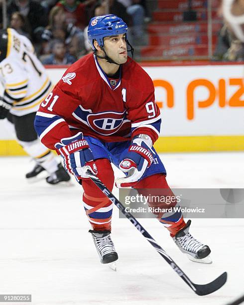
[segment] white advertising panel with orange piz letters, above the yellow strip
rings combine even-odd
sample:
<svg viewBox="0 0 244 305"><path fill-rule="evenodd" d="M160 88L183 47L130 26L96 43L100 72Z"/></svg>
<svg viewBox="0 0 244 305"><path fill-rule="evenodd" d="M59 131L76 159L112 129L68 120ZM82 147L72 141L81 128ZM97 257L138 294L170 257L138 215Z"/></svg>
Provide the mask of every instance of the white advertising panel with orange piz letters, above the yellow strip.
<svg viewBox="0 0 244 305"><path fill-rule="evenodd" d="M244 135L244 66L144 67L162 136Z"/></svg>

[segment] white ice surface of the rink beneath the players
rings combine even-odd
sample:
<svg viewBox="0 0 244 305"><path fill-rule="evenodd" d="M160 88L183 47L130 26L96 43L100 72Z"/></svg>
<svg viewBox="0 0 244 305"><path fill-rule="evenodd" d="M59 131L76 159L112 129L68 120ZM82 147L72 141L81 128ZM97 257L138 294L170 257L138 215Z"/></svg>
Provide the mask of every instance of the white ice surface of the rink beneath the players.
<svg viewBox="0 0 244 305"><path fill-rule="evenodd" d="M171 187L244 187L242 152L164 154L162 160ZM212 265L190 262L160 223L140 220L193 282L228 272L222 289L199 297L116 207L117 272L100 264L80 186L75 180L29 184L24 174L31 166L27 157L0 158L0 294L31 294L33 305L226 305L244 293L243 219L192 220L191 233L211 247Z"/></svg>

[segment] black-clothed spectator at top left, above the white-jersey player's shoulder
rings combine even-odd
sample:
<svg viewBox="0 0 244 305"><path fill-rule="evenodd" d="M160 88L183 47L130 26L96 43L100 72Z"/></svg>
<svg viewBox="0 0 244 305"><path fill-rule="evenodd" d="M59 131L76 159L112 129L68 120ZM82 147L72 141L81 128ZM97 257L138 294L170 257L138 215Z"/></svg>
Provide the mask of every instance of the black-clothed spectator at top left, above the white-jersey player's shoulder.
<svg viewBox="0 0 244 305"><path fill-rule="evenodd" d="M7 4L8 20L12 14L19 11L28 20L31 27L31 38L35 40L34 30L47 25L47 15L44 7L35 0L9 0Z"/></svg>

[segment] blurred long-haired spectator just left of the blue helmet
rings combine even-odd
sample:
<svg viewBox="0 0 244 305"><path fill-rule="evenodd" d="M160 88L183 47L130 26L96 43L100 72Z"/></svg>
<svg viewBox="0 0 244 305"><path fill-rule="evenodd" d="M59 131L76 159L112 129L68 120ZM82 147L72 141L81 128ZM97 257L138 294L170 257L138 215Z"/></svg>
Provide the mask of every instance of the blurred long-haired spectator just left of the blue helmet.
<svg viewBox="0 0 244 305"><path fill-rule="evenodd" d="M50 53L50 42L55 38L63 40L74 56L84 50L83 31L72 23L66 23L64 9L60 6L50 10L48 26L41 33L42 54Z"/></svg>

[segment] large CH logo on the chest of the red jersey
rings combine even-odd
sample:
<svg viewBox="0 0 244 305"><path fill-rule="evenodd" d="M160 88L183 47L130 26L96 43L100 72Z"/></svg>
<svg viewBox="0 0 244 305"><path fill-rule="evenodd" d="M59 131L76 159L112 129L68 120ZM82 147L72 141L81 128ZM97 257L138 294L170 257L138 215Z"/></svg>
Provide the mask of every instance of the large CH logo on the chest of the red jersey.
<svg viewBox="0 0 244 305"><path fill-rule="evenodd" d="M100 114L89 114L87 122L96 133L110 136L115 134L125 123L124 113L103 112Z"/></svg>

